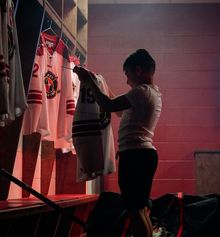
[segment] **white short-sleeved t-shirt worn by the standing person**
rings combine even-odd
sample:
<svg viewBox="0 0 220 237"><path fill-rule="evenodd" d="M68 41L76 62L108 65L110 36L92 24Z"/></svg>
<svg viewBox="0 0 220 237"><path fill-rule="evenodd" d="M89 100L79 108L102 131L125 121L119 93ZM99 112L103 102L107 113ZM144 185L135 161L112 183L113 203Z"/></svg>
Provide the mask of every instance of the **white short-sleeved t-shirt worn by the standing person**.
<svg viewBox="0 0 220 237"><path fill-rule="evenodd" d="M154 130L162 101L157 86L142 84L125 94L131 108L124 110L119 128L119 151L153 148Z"/></svg>

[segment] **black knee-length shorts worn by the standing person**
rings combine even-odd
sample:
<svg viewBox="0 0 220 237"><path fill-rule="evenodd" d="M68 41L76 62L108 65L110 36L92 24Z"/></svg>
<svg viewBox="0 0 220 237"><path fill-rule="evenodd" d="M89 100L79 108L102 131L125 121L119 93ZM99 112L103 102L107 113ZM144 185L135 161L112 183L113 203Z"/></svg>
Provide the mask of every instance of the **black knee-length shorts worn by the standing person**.
<svg viewBox="0 0 220 237"><path fill-rule="evenodd" d="M148 206L151 186L158 164L154 149L119 152L119 186L127 209Z"/></svg>

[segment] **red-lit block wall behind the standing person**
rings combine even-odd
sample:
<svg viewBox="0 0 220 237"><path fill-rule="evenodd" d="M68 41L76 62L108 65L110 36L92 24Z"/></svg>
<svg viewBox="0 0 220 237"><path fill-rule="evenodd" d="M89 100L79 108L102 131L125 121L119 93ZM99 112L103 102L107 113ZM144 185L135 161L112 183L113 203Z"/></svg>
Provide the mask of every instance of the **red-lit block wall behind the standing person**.
<svg viewBox="0 0 220 237"><path fill-rule="evenodd" d="M193 152L220 147L219 12L220 4L90 6L88 65L116 94L128 90L122 63L129 53L143 47L157 62L163 113L152 196L195 193ZM118 124L114 117L115 139ZM118 190L117 175L106 188Z"/></svg>

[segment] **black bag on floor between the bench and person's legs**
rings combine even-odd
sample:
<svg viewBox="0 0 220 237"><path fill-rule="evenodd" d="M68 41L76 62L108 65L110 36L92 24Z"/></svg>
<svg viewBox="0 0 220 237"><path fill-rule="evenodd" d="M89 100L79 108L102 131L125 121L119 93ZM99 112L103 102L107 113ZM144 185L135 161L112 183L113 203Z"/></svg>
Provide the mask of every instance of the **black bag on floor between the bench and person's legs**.
<svg viewBox="0 0 220 237"><path fill-rule="evenodd" d="M101 193L87 220L87 237L121 237L126 219L120 194Z"/></svg>

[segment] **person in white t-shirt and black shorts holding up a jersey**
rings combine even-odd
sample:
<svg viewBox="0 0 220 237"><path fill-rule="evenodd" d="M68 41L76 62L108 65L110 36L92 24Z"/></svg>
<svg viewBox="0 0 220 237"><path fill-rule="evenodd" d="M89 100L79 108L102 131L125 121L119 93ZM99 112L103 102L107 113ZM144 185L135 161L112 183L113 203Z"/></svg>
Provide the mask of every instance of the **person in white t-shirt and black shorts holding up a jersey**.
<svg viewBox="0 0 220 237"><path fill-rule="evenodd" d="M103 110L122 111L118 132L118 182L134 237L151 237L153 233L148 200L158 154L152 138L162 109L161 93L154 84L155 67L154 59L145 49L128 56L123 70L131 90L114 98L102 93L93 73L82 67L74 68Z"/></svg>

